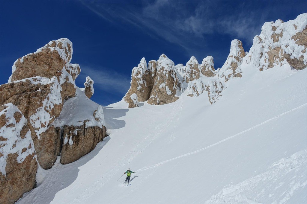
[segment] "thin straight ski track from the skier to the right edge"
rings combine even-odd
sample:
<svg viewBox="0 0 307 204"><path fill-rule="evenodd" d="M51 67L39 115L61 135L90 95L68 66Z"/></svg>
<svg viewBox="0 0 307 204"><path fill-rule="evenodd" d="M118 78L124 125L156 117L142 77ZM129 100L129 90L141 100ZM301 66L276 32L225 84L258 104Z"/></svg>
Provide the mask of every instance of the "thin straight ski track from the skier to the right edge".
<svg viewBox="0 0 307 204"><path fill-rule="evenodd" d="M283 116L283 115L286 115L287 113L290 113L290 112L292 112L292 111L295 111L295 110L297 110L297 109L299 109L299 108L305 106L306 104L307 104L307 103L305 103L305 104L303 104L303 105L300 105L300 106L298 106L298 107L296 107L296 108L293 108L293 109L291 109L290 111L286 111L286 112L284 112L284 113L282 113L282 114L280 114L280 115L275 116L274 118L268 119L268 120L266 120L266 121L264 121L264 122L262 122L262 123L260 123L260 124L258 124L258 125L255 125L255 126L253 126L253 127L251 127L251 128L248 128L248 129L246 129L246 130L243 130L242 132L239 132L239 133L237 133L237 134L234 134L234 135L232 135L232 136L230 136L230 137L228 137L228 138L225 138L225 139L223 139L223 140L221 140L221 141L219 141L219 142L216 142L216 143L214 143L214 144L212 144L212 145L209 145L209 146L207 146L207 147L198 149L198 150L193 151L193 152L190 152L190 153L183 154L183 155L178 156L178 157L174 157L174 158L169 159L169 160L162 161L162 162L160 162L160 163L151 165L151 166L149 166L149 167L144 167L144 168L138 169L138 171L145 171L145 170L147 170L147 169L154 168L154 167L160 166L160 165L162 165L162 164L165 164L165 163L167 163L167 162L169 162L169 161L173 161L173 160L179 159L179 158L181 158L181 157L185 157L185 156L188 156L188 155L191 155L191 154L198 153L198 152L200 152L200 151L203 151L203 150L205 150L205 149L208 149L208 148L210 148L210 147L213 147L213 146L215 146L215 145L218 145L218 144L220 144L220 143L222 143L222 142L225 142L225 141L227 141L227 140L230 140L231 138L234 138L234 137L236 137L236 136L238 136L238 135L240 135L240 134L242 134L242 133L245 133L245 132L248 132L248 131L250 131L250 130L253 130L253 129L255 129L256 127L259 127L259 126L261 126L261 125L263 125L263 124L265 124L265 123L270 122L271 120L274 120L274 119L279 118L279 117L281 117L281 116Z"/></svg>

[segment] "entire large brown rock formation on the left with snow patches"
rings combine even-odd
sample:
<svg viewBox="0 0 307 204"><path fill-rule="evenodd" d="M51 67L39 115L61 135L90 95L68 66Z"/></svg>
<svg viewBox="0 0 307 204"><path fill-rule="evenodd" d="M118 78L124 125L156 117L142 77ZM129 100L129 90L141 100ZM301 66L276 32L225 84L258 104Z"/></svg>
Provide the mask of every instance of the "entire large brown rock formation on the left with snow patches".
<svg viewBox="0 0 307 204"><path fill-rule="evenodd" d="M71 59L68 39L50 41L17 59L8 83L0 86L1 200L12 203L35 186L37 161L42 168L51 168L61 150L64 163L76 161L106 136L103 108L88 99L94 93L93 80L87 77L83 90L76 87L81 70ZM68 101L74 101L78 109L63 113ZM76 117L78 122L54 123L59 116L71 118L76 113L81 115ZM63 143L68 130L78 140L69 149Z"/></svg>

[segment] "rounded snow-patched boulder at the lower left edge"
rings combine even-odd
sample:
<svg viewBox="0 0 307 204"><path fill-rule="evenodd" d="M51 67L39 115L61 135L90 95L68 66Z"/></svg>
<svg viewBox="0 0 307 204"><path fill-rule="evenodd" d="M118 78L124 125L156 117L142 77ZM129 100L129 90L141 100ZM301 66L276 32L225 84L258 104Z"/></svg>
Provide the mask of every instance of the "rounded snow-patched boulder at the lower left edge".
<svg viewBox="0 0 307 204"><path fill-rule="evenodd" d="M36 185L37 161L31 132L13 104L0 107L0 201L14 203Z"/></svg>

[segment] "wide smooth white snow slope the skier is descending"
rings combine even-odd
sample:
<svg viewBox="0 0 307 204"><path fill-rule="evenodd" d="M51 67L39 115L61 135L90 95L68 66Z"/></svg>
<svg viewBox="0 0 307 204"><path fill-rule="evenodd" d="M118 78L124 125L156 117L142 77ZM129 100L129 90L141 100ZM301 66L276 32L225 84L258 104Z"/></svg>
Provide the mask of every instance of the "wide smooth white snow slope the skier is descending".
<svg viewBox="0 0 307 204"><path fill-rule="evenodd" d="M110 136L17 203L306 203L307 69L241 69L212 105L104 107Z"/></svg>

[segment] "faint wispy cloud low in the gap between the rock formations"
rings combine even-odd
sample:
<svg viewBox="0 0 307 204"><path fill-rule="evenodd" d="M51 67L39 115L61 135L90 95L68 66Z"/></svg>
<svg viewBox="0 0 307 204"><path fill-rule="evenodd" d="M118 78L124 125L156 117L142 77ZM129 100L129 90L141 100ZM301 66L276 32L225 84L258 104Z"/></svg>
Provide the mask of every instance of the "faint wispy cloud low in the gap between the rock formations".
<svg viewBox="0 0 307 204"><path fill-rule="evenodd" d="M80 76L77 83L82 84L87 76L94 80L94 88L105 92L120 94L124 96L130 87L131 78L116 71L105 68L93 69L90 66L81 66Z"/></svg>

